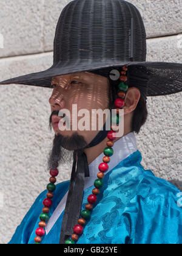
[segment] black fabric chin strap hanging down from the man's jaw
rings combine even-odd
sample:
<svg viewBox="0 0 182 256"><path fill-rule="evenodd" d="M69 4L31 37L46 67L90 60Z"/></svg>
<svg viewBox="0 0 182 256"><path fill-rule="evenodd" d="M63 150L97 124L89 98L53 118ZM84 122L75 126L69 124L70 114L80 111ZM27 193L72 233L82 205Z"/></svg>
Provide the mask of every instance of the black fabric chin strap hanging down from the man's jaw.
<svg viewBox="0 0 182 256"><path fill-rule="evenodd" d="M114 105L113 105L114 106ZM113 107L112 106L112 107ZM110 121L112 115L110 110ZM106 130L106 123L103 130L100 130L96 137L90 142L86 148L91 148L101 143L106 137L109 130ZM78 160L76 161L76 155ZM77 166L76 166L77 163ZM76 171L75 171L76 169ZM81 206L83 201L84 181L85 177L89 177L89 164L84 149L79 149L73 152L73 166L70 179L69 192L62 219L61 236L59 244L64 244L67 239L73 234L73 227L78 224L80 218Z"/></svg>

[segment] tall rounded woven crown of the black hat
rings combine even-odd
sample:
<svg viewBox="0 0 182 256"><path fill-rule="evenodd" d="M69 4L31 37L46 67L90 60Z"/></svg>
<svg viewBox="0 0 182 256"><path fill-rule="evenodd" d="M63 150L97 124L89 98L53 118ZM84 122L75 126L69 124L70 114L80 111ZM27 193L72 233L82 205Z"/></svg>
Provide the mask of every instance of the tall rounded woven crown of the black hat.
<svg viewBox="0 0 182 256"><path fill-rule="evenodd" d="M146 61L146 30L135 5L124 0L73 0L56 26L54 65Z"/></svg>

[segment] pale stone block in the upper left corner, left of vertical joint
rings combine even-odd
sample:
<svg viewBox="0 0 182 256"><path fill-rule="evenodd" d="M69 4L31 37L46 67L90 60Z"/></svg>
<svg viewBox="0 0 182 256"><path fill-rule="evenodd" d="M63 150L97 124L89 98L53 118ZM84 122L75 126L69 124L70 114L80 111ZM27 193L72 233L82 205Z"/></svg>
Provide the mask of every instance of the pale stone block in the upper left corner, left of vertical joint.
<svg viewBox="0 0 182 256"><path fill-rule="evenodd" d="M1 0L0 34L4 48L0 48L0 57L43 51L43 4L43 0Z"/></svg>

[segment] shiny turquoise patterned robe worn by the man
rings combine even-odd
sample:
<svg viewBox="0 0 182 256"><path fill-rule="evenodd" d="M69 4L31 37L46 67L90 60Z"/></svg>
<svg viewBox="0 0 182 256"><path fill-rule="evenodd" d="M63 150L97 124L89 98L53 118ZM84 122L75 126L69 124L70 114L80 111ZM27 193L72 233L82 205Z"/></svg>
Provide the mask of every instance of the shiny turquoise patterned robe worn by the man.
<svg viewBox="0 0 182 256"><path fill-rule="evenodd" d="M91 218L77 244L182 243L182 209L177 205L180 190L145 170L141 159L140 151L136 151L106 174ZM83 208L93 188L84 190ZM68 189L69 181L56 185L50 215ZM46 193L38 196L10 244L34 243ZM59 243L62 216L63 213L42 244Z"/></svg>

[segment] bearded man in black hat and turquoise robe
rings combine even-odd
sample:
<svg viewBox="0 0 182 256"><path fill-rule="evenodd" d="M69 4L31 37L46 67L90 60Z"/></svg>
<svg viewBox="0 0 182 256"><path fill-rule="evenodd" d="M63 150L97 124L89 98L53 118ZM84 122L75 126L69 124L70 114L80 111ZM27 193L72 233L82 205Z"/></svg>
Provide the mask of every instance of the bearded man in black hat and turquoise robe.
<svg viewBox="0 0 182 256"><path fill-rule="evenodd" d="M146 121L147 96L182 90L182 65L145 58L146 34L134 5L75 0L59 18L53 66L0 83L53 88L48 193L38 196L10 243L182 242L180 191L144 170L134 135ZM107 130L113 116L104 116L103 130L79 129L83 117L75 105L76 113L87 110L84 122L92 125L99 121L92 110L115 109L115 125ZM72 176L55 186L63 149L74 151Z"/></svg>

